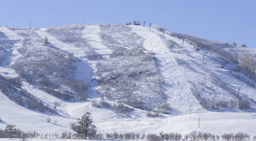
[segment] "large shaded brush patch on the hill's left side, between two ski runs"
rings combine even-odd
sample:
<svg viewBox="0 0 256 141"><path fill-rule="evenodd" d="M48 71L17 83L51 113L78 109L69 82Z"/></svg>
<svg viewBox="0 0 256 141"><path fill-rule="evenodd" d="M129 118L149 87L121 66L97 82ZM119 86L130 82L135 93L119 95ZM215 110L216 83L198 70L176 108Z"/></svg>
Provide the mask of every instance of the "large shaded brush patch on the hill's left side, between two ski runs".
<svg viewBox="0 0 256 141"><path fill-rule="evenodd" d="M86 100L89 85L83 80L75 79L77 59L72 53L46 45L50 44L48 39L42 39L34 30L14 28L13 31L25 38L17 49L22 57L12 65L17 74L53 96L64 100L73 97ZM60 32L58 36L62 32L62 36L65 36L66 31L56 31Z"/></svg>

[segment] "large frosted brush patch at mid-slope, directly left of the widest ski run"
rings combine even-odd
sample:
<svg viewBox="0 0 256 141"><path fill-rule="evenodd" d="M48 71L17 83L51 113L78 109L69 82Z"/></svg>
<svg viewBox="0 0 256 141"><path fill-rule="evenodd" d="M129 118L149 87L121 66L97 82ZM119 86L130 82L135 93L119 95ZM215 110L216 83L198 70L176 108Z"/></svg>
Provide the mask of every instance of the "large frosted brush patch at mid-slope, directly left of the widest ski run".
<svg viewBox="0 0 256 141"><path fill-rule="evenodd" d="M150 54L149 56L147 60L153 58ZM99 61L96 65L96 75L100 78L101 86L98 91L107 99L157 110L159 103L166 102L163 97L163 78L154 60L142 59L122 56Z"/></svg>

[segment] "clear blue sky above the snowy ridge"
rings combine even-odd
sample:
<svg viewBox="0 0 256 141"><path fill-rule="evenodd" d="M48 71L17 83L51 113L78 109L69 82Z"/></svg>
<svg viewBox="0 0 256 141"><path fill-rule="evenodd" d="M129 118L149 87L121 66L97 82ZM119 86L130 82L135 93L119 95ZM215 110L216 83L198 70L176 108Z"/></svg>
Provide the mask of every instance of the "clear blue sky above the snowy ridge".
<svg viewBox="0 0 256 141"><path fill-rule="evenodd" d="M53 27L146 21L256 48L256 0L0 0L0 25Z"/></svg>

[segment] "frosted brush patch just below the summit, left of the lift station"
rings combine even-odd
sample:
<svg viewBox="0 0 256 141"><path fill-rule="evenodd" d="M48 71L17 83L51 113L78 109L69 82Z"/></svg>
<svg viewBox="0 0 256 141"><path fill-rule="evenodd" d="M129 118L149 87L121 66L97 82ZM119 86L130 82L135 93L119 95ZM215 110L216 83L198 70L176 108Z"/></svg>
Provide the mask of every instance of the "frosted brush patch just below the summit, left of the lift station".
<svg viewBox="0 0 256 141"><path fill-rule="evenodd" d="M132 28L122 24L100 25L100 28L99 36L102 39L102 44L112 50L110 57L143 54L143 39L132 32Z"/></svg>

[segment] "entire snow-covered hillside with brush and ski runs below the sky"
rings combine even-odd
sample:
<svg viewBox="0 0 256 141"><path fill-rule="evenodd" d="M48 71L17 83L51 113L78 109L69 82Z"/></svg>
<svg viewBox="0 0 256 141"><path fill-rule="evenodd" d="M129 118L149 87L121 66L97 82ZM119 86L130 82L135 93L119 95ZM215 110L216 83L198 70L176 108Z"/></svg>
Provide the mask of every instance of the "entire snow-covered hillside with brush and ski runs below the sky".
<svg viewBox="0 0 256 141"><path fill-rule="evenodd" d="M185 39L182 46L178 36L162 34L155 28L121 24L0 27L0 75L22 83L13 87L14 98L1 87L0 128L13 123L25 131L61 133L90 112L103 134L197 130L253 136L255 81L231 71L237 64L221 62L225 56L203 47L196 52L191 40ZM238 61L256 55L249 48L223 50L237 52ZM29 96L49 109L33 108ZM56 113L55 101L61 105ZM243 107L245 101L250 107Z"/></svg>

